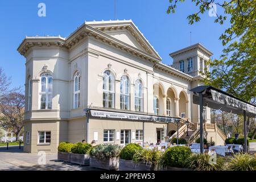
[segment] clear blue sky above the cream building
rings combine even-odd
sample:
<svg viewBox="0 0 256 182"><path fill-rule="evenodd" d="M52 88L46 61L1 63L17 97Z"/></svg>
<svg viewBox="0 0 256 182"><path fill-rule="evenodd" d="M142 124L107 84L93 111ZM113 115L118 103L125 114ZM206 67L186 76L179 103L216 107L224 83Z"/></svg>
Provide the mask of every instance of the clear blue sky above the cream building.
<svg viewBox="0 0 256 182"><path fill-rule="evenodd" d="M46 17L38 16L38 4L46 4ZM214 53L213 59L221 55L222 44L218 40L229 26L214 23L208 12L199 23L188 24L187 16L197 11L191 1L180 3L175 14L166 14L168 0L116 0L116 18L132 19L151 45L158 51L163 63L171 64L169 53L190 46L203 44ZM221 9L217 7L217 13ZM25 58L16 49L27 36L60 35L67 37L85 20L114 19L114 0L9 0L0 2L0 66L12 77L12 87L24 86Z"/></svg>

